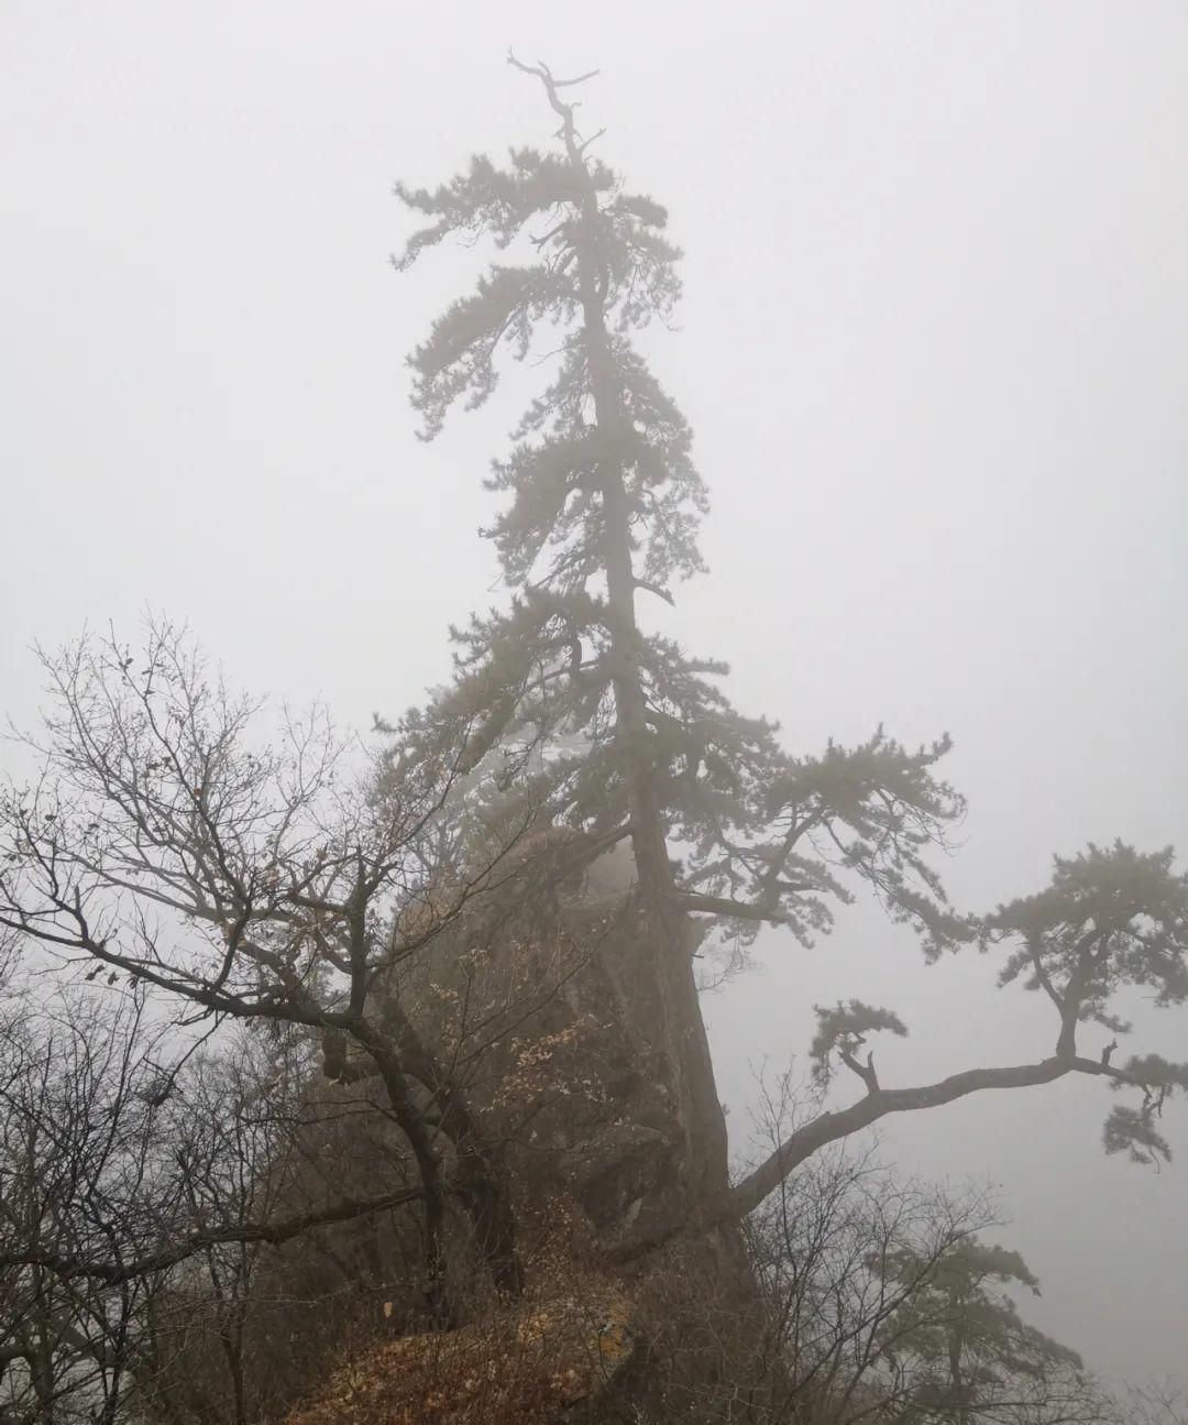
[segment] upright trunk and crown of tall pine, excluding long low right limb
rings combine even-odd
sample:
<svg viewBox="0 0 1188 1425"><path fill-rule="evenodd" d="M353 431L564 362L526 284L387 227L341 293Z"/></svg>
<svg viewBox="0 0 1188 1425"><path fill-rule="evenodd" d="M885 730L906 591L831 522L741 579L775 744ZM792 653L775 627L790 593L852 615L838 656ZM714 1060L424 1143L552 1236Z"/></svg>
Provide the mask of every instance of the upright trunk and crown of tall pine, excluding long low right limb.
<svg viewBox="0 0 1188 1425"><path fill-rule="evenodd" d="M513 64L517 64L514 58ZM450 184L399 185L430 219L407 268L446 238L489 237L523 261L497 262L412 356L426 439L449 409L483 403L504 353L557 349L551 383L513 432L487 487L506 504L486 533L514 591L510 607L456 631L457 681L402 728L402 751L432 755L476 728L471 762L493 748L520 767L543 745L574 747L538 785L551 821L591 854L630 838L637 935L655 1070L684 1131L684 1196L726 1188L726 1134L698 1007L692 952L705 922L752 935L768 922L809 939L869 882L933 953L970 935L926 861L960 815L936 777L940 738L910 751L882 730L863 745L788 755L776 727L735 711L722 663L644 630L641 596L702 570L705 487L689 426L652 375L638 333L679 296L667 215L591 157L561 81L536 76L560 118L560 152L474 158Z"/></svg>

